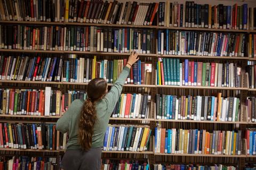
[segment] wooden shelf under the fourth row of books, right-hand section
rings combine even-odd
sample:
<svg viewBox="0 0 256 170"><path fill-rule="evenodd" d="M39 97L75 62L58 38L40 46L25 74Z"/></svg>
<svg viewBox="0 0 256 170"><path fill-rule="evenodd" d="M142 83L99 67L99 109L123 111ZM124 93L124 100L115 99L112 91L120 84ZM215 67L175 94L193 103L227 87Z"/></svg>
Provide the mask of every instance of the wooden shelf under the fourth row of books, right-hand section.
<svg viewBox="0 0 256 170"><path fill-rule="evenodd" d="M247 124L247 122L228 122L228 121L194 121L194 120L171 120L171 119L155 119L159 122L184 122L184 123L225 123L225 124Z"/></svg>

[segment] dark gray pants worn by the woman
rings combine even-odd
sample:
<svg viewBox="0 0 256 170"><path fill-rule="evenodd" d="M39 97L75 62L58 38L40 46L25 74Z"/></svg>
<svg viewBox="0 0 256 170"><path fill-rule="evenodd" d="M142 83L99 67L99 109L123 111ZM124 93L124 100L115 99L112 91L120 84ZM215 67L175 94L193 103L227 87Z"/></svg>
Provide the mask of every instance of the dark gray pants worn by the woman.
<svg viewBox="0 0 256 170"><path fill-rule="evenodd" d="M64 170L99 170L101 166L101 148L91 148L89 151L67 150L60 167Z"/></svg>

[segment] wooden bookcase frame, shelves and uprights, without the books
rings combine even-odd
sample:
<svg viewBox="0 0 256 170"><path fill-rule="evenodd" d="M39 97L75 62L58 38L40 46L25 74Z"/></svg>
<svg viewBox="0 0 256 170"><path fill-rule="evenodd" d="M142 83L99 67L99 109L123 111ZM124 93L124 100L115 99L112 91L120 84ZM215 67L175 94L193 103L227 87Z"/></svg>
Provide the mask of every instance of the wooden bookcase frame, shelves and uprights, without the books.
<svg viewBox="0 0 256 170"><path fill-rule="evenodd" d="M183 1L182 1L183 2ZM232 2L232 1L230 1ZM203 3L203 2L201 2ZM210 2L206 2L209 3ZM221 1L215 0L214 3L221 3ZM233 3L233 2L232 2ZM236 2L234 2L236 3ZM241 1L241 3L246 3L246 1ZM250 2L252 3L252 2ZM255 3L255 2L254 2ZM233 5L233 4L231 4ZM256 6L256 3L255 3ZM157 16L155 16L157 17ZM182 28L182 27L163 27L158 25L148 26L148 25L119 25L119 24L94 24L94 23L70 23L70 22L29 22L29 21L0 21L0 24L26 24L26 25L73 25L73 26L97 26L97 27L111 27L111 28L150 28L154 29L157 32L158 29L170 29L170 30L193 30L193 31L214 31L214 32L237 32L237 33L255 33L256 30L225 30L225 29L208 29L208 28ZM157 33L155 34L157 38ZM156 41L157 46L157 41ZM17 50L17 49L0 49L2 54L21 54L21 53L32 53L32 54L61 54L63 57L67 57L68 54L81 54L81 55L100 55L100 56L120 56L127 58L130 54L128 53L103 53L103 52L79 52L79 51L54 51L54 50ZM156 85L155 83L155 63L158 61L158 57L171 57L171 58L183 58L189 60L235 60L241 63L242 68L247 65L247 61L256 61L256 58L247 57L218 57L218 56L196 56L196 55L159 55L157 54L139 54L142 57L150 57L152 64L152 81L151 85L134 85L134 84L125 84L125 92L140 92L142 88L148 88L148 94L151 95L150 103L150 115L149 118L110 118L111 124L132 124L132 125L149 125L150 129L154 130L155 127L164 127L170 128L191 128L201 127L202 129L212 128L215 129L240 129L245 130L247 126L256 128L256 123L247 122L247 116L245 115L245 99L249 92L256 95L256 89L249 89L247 83L246 74L242 74L242 86L240 88L231 88L231 87L189 87L189 86L167 86L167 85ZM83 89L86 90L87 83L74 83L74 82L44 82L44 81L13 81L13 80L0 80L0 88L31 88L31 89L44 89L46 86L54 87L59 89L62 92L67 91L68 89ZM112 84L108 84L111 86ZM169 94L169 95L186 95L186 94L200 94L205 95L209 94L212 91L221 91L226 95L232 95L233 93L239 91L241 96L241 114L243 115L243 121L239 122L211 122L211 121L193 121L193 120L157 120L155 116L155 106L154 106L154 96L156 94ZM38 123L38 122L57 122L60 116L36 116L36 115L0 115L0 122L20 122L20 123ZM146 121L146 122L145 122ZM185 129L184 128L184 129ZM199 128L198 128L199 129ZM154 137L153 137L154 138ZM125 159L124 157L128 156L127 159L136 159L136 160L147 160L152 167L155 163L195 163L195 164L218 164L222 163L225 165L238 165L239 169L244 168L246 161L256 162L256 156L246 155L243 152L243 155L198 155L198 154L158 154L154 152L154 140L152 140L151 148L149 151L144 152L131 152L131 151L102 151L103 154L107 154L104 158L107 159ZM243 141L244 142L244 141ZM33 149L8 149L0 148L0 155L29 155L31 156L37 153L36 155L41 156L52 156L57 157L58 164L60 161L60 156L63 155L65 150L33 150ZM132 156L131 156L132 155ZM143 155L143 157L138 158L137 155Z"/></svg>

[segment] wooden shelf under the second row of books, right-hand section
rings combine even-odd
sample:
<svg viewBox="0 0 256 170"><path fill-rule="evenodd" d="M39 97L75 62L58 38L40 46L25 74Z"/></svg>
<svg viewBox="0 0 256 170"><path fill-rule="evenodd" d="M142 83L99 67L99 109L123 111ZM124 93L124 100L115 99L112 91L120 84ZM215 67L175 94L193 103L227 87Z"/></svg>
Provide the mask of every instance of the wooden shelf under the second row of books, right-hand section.
<svg viewBox="0 0 256 170"><path fill-rule="evenodd" d="M229 59L229 60L249 60L248 57L226 57L226 56L201 56L201 55L163 55L163 54L158 54L158 57L170 57L170 58L198 58L198 59Z"/></svg>

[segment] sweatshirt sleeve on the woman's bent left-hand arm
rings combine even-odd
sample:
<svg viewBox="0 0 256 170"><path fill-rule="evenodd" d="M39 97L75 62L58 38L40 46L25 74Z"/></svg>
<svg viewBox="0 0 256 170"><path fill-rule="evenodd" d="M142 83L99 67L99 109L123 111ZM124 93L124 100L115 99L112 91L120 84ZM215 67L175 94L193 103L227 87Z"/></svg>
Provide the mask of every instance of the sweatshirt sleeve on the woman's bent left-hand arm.
<svg viewBox="0 0 256 170"><path fill-rule="evenodd" d="M81 111L81 101L80 100L74 100L71 105L69 106L67 112L59 118L56 124L56 129L60 131L61 133L68 132L69 123L73 117L74 114L80 113Z"/></svg>

